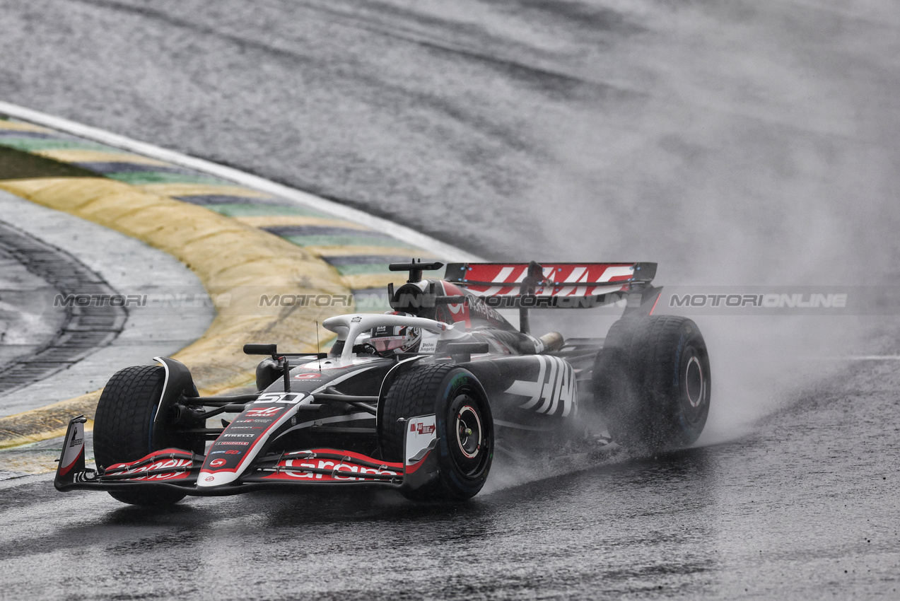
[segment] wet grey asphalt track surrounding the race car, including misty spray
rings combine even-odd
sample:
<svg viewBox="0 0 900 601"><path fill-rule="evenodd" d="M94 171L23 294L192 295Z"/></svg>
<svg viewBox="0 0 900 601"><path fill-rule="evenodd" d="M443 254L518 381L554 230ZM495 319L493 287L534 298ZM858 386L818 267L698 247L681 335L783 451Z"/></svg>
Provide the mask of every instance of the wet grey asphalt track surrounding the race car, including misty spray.
<svg viewBox="0 0 900 601"><path fill-rule="evenodd" d="M887 2L0 14L4 100L483 255L658 260L663 283L897 282ZM461 507L253 495L153 514L4 483L4 594L896 598L900 363L833 360L900 354L896 318L695 319L716 371L701 448L500 466Z"/></svg>

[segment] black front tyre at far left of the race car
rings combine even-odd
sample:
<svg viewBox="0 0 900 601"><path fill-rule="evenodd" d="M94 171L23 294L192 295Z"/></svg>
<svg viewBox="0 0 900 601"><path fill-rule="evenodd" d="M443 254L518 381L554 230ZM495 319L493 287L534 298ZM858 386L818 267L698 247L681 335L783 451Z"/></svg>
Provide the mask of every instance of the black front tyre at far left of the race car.
<svg viewBox="0 0 900 601"><path fill-rule="evenodd" d="M171 436L153 434L153 420L162 396L166 370L160 365L126 367L103 388L94 417L94 460L98 466L133 462L148 453L174 446ZM112 498L131 505L171 505L184 493L157 487L110 491Z"/></svg>

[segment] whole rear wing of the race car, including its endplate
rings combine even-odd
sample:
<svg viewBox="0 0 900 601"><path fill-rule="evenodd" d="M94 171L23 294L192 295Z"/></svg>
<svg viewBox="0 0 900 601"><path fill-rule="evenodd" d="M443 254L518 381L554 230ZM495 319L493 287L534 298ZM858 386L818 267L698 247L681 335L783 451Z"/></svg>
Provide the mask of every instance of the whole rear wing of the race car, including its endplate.
<svg viewBox="0 0 900 601"><path fill-rule="evenodd" d="M494 308L583 308L627 298L626 312L653 312L662 288L650 285L655 263L451 263L444 279L482 297Z"/></svg>

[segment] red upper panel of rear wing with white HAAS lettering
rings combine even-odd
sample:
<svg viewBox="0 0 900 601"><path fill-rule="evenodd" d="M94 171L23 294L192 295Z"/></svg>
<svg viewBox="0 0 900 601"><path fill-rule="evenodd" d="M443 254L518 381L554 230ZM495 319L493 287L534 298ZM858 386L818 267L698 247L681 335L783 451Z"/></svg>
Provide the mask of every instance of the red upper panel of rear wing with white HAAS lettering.
<svg viewBox="0 0 900 601"><path fill-rule="evenodd" d="M545 263L537 296L596 296L650 283L655 263ZM451 263L445 280L484 296L518 295L527 263Z"/></svg>

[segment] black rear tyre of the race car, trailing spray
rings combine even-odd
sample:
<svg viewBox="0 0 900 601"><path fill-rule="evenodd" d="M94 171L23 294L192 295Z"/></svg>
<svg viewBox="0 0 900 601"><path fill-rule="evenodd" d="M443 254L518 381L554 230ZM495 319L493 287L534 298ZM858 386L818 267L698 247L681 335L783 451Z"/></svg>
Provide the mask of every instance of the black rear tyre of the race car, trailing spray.
<svg viewBox="0 0 900 601"><path fill-rule="evenodd" d="M619 319L594 363L594 401L618 444L653 452L694 444L707 423L707 345L689 318Z"/></svg>

